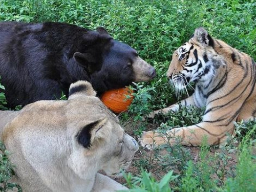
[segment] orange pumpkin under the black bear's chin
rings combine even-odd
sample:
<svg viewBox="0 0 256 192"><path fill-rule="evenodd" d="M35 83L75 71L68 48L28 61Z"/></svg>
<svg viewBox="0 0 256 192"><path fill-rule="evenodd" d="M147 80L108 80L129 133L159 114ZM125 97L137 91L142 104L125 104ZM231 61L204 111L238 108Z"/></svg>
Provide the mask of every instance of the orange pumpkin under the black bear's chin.
<svg viewBox="0 0 256 192"><path fill-rule="evenodd" d="M133 90L130 88L120 88L104 92L101 95L101 101L114 113L121 113L128 109L133 101ZM130 98L127 99L126 95Z"/></svg>

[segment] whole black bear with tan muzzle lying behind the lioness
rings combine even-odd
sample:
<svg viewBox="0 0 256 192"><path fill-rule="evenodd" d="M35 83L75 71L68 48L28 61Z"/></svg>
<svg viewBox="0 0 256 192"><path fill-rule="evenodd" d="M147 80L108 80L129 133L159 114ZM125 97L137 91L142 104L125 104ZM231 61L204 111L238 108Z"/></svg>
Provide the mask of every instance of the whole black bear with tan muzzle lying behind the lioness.
<svg viewBox="0 0 256 192"><path fill-rule="evenodd" d="M136 50L96 31L65 23L0 23L0 75L9 107L68 96L88 80L98 95L148 81L155 69Z"/></svg>

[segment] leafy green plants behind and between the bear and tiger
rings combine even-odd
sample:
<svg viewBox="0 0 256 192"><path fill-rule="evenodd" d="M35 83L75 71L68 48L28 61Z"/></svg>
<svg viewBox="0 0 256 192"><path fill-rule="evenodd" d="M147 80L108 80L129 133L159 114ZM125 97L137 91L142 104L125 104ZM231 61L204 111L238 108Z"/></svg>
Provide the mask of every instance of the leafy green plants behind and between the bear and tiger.
<svg viewBox="0 0 256 192"><path fill-rule="evenodd" d="M151 97L145 99L145 110L140 105L133 110L138 115L177 101L165 73L173 51L199 26L256 59L255 1L2 0L0 20L66 22L89 29L104 26L157 69L154 81L140 84Z"/></svg>

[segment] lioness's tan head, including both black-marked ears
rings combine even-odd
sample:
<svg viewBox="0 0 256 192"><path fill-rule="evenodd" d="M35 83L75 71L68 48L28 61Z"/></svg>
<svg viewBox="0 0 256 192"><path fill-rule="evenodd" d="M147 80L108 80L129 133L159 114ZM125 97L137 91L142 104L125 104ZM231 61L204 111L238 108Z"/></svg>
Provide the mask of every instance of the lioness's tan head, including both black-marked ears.
<svg viewBox="0 0 256 192"><path fill-rule="evenodd" d="M96 169L115 176L130 165L138 144L95 95L86 81L71 84L66 107L75 110L66 113L72 139L69 166L80 177Z"/></svg>

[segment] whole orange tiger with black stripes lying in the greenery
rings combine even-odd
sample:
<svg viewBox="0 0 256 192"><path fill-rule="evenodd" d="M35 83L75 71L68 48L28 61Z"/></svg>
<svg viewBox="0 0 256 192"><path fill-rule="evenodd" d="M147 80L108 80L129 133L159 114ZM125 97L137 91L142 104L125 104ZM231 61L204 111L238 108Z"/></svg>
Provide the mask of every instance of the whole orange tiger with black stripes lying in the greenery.
<svg viewBox="0 0 256 192"><path fill-rule="evenodd" d="M195 106L205 108L202 121L168 130L164 135L143 132L140 144L146 148L174 144L177 136L182 145L199 146L205 140L208 145L222 144L228 134L234 135L233 121L255 119L255 72L255 62L249 55L212 38L203 27L195 29L194 35L173 53L166 73L178 92L194 82L193 95L148 117Z"/></svg>

